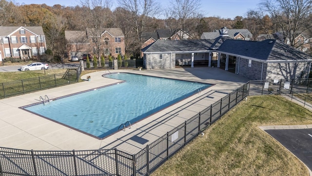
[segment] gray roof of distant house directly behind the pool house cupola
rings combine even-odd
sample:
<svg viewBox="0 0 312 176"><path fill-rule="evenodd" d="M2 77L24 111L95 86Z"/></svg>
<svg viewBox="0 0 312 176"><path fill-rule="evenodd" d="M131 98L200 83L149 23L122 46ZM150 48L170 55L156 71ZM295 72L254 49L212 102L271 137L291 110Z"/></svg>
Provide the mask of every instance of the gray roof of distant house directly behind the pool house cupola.
<svg viewBox="0 0 312 176"><path fill-rule="evenodd" d="M221 31L203 32L200 39L215 39L220 36ZM248 29L229 29L229 37L234 38L237 34L241 33L244 37L253 37L253 34Z"/></svg>

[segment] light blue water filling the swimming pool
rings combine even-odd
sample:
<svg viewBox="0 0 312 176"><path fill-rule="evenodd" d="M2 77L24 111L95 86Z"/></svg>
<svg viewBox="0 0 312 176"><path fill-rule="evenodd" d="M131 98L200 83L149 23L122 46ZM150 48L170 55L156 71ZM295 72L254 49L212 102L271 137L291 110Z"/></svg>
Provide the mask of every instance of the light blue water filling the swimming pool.
<svg viewBox="0 0 312 176"><path fill-rule="evenodd" d="M129 73L106 77L126 82L24 109L103 138L127 121L133 124L211 86Z"/></svg>

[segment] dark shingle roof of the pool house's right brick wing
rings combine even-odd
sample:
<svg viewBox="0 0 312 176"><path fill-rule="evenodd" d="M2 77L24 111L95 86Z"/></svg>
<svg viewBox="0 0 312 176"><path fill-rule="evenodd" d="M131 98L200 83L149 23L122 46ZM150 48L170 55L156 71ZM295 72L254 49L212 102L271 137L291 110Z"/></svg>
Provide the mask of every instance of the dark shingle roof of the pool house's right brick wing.
<svg viewBox="0 0 312 176"><path fill-rule="evenodd" d="M231 53L264 61L290 61L312 59L308 54L278 40L242 41L226 40L217 49L220 52Z"/></svg>

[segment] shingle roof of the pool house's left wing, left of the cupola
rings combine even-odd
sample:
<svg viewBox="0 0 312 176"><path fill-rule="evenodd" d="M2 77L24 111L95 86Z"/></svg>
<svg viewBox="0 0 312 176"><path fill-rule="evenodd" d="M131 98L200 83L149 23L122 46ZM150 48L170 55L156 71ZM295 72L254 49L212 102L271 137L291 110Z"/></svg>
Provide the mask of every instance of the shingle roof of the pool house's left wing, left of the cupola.
<svg viewBox="0 0 312 176"><path fill-rule="evenodd" d="M143 52L208 51L215 40L157 40L142 49Z"/></svg>

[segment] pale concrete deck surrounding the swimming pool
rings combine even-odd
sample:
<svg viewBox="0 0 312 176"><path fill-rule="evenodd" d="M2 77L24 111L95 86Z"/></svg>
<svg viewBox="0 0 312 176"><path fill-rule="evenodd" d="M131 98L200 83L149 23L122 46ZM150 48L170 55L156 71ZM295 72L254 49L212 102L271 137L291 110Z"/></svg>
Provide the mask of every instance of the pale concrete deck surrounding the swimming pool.
<svg viewBox="0 0 312 176"><path fill-rule="evenodd" d="M214 86L195 93L193 96L161 110L135 124L131 129L119 131L105 139L99 140L87 134L75 131L19 107L40 102L39 97L47 95L50 100L55 98L103 87L119 82L102 77L106 73L129 72L142 75L195 81ZM212 67L175 68L155 70L102 70L83 75L90 75L91 81L27 93L20 96L0 100L0 147L25 150L97 150L117 148L129 154L136 154L147 144L154 142L166 132L174 129L184 121L193 117L227 93L239 88L248 79L234 73ZM217 90L217 91L216 91ZM209 98L207 98L209 95ZM69 109L75 107L68 107ZM144 142L136 138L144 139Z"/></svg>

